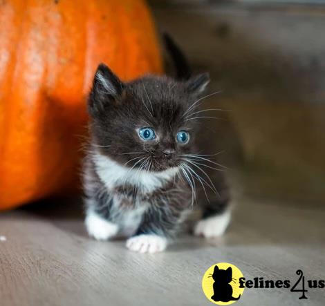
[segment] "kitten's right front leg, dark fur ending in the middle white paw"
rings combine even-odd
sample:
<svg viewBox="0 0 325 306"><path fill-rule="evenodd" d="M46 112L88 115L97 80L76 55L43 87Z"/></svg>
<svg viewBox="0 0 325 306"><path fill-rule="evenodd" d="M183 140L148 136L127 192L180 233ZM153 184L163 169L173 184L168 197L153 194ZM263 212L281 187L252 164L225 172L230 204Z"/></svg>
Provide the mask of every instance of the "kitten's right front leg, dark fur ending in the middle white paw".
<svg viewBox="0 0 325 306"><path fill-rule="evenodd" d="M157 208L145 213L136 234L127 240L127 248L140 253L156 253L164 251L168 237L175 231L178 213Z"/></svg>

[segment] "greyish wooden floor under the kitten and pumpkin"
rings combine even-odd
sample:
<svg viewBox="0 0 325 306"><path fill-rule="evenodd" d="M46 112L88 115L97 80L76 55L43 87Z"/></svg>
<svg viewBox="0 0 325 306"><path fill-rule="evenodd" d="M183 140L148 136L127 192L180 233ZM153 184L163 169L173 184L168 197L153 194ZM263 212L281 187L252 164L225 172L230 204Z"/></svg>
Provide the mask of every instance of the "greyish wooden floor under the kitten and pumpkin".
<svg viewBox="0 0 325 306"><path fill-rule="evenodd" d="M136 254L124 241L88 238L71 204L46 202L0 215L0 305L212 305L201 278L230 262L245 278L325 278L325 210L237 200L228 233L205 241L185 236L162 254ZM238 305L324 305L288 289L245 289Z"/></svg>

